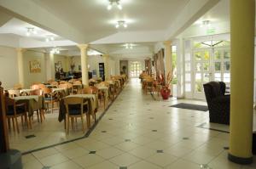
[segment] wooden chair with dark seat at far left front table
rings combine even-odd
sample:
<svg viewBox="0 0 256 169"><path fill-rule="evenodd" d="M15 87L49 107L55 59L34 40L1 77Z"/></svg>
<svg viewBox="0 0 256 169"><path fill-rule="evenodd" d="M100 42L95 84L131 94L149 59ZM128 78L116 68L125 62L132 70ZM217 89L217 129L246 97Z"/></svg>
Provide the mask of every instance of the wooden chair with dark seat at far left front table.
<svg viewBox="0 0 256 169"><path fill-rule="evenodd" d="M25 119L26 127L28 128L26 104L25 103L16 104L15 99L11 99L8 97L5 98L5 104L6 104L6 117L7 117L9 129L10 129L10 119L11 119L13 123L14 131L16 128L17 132L20 133L17 117L21 118L21 123L23 125L24 124L23 116ZM30 121L30 126L31 126L31 121Z"/></svg>

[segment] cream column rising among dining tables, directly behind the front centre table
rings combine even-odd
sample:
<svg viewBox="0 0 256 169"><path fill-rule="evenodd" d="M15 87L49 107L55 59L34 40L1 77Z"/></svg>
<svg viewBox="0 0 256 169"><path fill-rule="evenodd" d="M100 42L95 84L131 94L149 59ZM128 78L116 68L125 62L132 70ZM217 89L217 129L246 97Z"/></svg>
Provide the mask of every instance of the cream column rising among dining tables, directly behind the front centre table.
<svg viewBox="0 0 256 169"><path fill-rule="evenodd" d="M88 57L87 57L88 44L79 44L78 47L81 50L82 83L85 86L89 86L89 82L88 82Z"/></svg>

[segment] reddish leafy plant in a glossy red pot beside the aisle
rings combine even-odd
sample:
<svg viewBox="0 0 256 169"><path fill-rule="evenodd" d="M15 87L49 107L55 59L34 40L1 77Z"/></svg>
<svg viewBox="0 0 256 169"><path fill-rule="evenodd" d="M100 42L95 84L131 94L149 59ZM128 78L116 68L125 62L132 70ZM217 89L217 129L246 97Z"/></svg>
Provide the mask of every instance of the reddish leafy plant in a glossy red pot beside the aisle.
<svg viewBox="0 0 256 169"><path fill-rule="evenodd" d="M169 72L167 76L164 76L163 74L161 74L158 79L159 79L160 85L162 86L162 88L160 89L162 98L169 99L171 94L170 84L172 82L171 73Z"/></svg>

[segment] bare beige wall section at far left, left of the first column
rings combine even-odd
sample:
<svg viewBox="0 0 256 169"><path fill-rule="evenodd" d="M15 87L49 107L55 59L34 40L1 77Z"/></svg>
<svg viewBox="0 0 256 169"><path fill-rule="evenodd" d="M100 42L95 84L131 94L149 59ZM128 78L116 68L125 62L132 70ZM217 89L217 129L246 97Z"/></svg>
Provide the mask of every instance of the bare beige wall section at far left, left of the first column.
<svg viewBox="0 0 256 169"><path fill-rule="evenodd" d="M11 88L19 82L15 48L0 46L0 81L3 87Z"/></svg>

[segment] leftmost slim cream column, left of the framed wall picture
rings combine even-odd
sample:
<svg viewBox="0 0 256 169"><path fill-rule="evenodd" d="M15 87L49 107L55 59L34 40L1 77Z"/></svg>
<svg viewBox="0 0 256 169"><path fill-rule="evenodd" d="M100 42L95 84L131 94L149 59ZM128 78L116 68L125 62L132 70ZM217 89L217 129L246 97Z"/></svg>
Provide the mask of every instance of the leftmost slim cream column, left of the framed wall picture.
<svg viewBox="0 0 256 169"><path fill-rule="evenodd" d="M19 83L24 87L24 68L23 68L23 54L26 52L25 48L16 48L17 59L18 59L18 73L19 73Z"/></svg>

